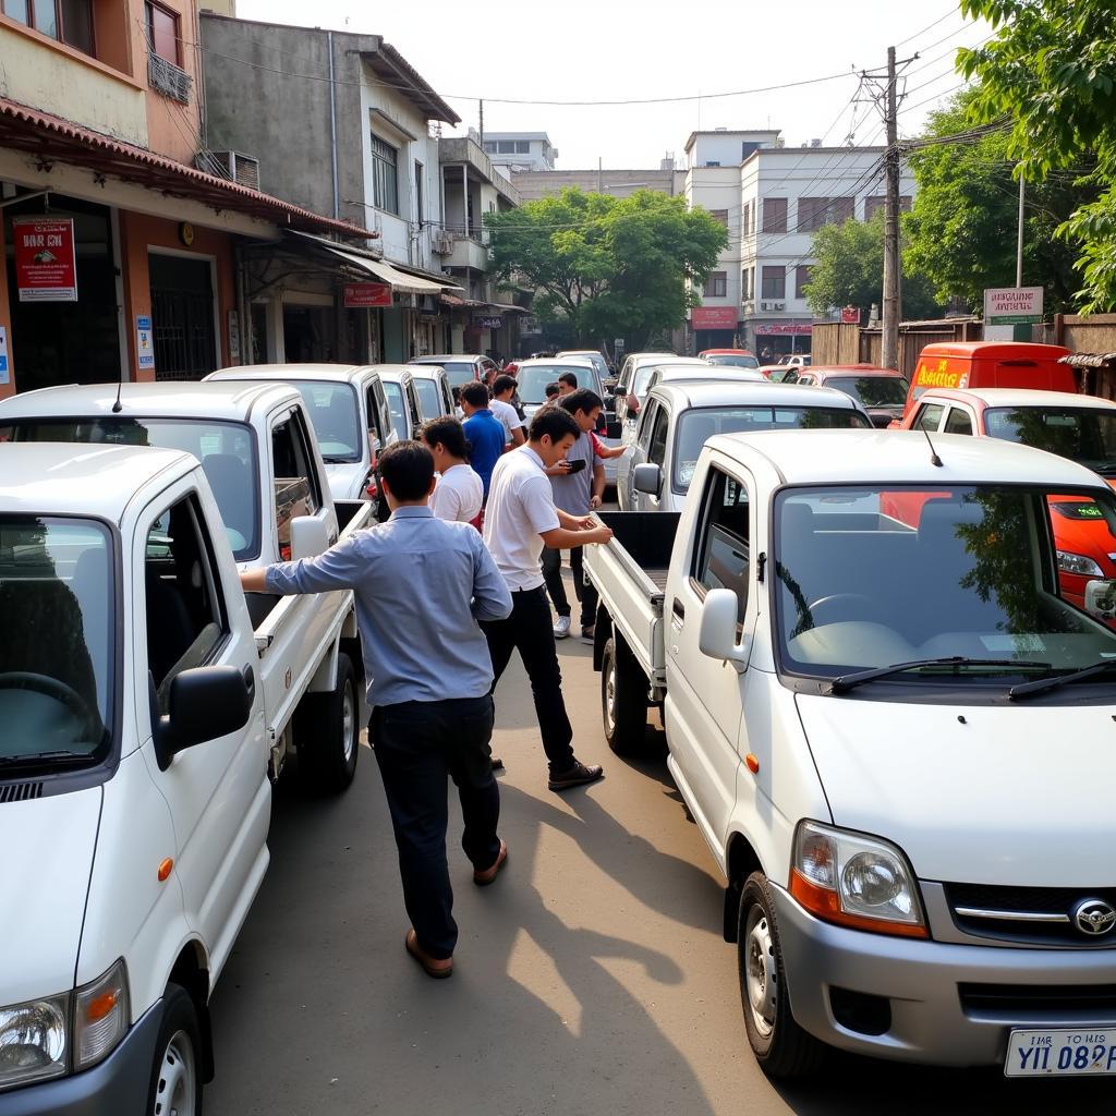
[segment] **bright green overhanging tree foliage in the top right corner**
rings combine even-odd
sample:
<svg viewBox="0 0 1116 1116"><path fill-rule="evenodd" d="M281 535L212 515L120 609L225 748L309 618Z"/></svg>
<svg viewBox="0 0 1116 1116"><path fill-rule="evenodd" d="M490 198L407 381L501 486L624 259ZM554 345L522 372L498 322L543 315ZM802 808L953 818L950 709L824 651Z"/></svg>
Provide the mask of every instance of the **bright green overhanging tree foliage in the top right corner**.
<svg viewBox="0 0 1116 1116"><path fill-rule="evenodd" d="M971 119L1007 116L1007 155L1028 182L1080 172L1095 187L1059 232L1078 246L1086 310L1116 307L1116 35L1112 0L961 0L995 38L962 50Z"/></svg>

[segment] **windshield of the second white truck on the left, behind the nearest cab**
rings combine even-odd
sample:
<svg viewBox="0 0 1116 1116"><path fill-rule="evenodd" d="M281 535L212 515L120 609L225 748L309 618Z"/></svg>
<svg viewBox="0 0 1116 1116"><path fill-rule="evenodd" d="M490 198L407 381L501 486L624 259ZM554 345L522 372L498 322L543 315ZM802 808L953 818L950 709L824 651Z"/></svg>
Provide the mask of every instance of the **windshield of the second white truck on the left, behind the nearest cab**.
<svg viewBox="0 0 1116 1116"><path fill-rule="evenodd" d="M154 445L192 453L205 471L237 561L260 552L259 462L251 427L202 419L28 419L0 426L0 442Z"/></svg>

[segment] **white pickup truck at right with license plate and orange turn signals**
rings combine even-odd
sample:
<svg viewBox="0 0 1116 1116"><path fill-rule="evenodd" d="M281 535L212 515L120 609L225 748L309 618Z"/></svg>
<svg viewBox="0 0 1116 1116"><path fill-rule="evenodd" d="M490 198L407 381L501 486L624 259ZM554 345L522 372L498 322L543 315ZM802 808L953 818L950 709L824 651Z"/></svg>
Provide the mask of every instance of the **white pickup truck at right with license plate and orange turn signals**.
<svg viewBox="0 0 1116 1116"><path fill-rule="evenodd" d="M1047 453L770 432L711 439L679 513L600 514L605 732L662 710L769 1074L1116 1072L1116 633L1062 591L1065 500L1116 536Z"/></svg>

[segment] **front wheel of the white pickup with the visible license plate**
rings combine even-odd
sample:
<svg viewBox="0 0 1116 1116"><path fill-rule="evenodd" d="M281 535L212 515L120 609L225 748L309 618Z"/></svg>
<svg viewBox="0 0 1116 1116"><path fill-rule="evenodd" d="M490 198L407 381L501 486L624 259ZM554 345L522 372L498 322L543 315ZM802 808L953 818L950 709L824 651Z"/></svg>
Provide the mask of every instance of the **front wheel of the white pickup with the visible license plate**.
<svg viewBox="0 0 1116 1116"><path fill-rule="evenodd" d="M762 872L753 872L740 894L737 959L744 1028L760 1069L783 1078L814 1072L825 1047L791 1014L775 903Z"/></svg>

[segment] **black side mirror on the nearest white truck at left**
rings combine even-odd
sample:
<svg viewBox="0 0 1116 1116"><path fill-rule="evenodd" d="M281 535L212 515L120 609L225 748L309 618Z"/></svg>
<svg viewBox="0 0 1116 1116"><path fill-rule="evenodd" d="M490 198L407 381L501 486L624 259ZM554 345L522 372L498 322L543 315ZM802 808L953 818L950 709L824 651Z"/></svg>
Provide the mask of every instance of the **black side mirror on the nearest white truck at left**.
<svg viewBox="0 0 1116 1116"><path fill-rule="evenodd" d="M254 675L235 666L195 666L175 675L166 716L155 728L155 756L165 771L175 754L242 729L252 712ZM154 695L153 695L154 696ZM153 711L157 712L153 702Z"/></svg>

